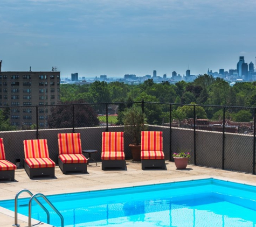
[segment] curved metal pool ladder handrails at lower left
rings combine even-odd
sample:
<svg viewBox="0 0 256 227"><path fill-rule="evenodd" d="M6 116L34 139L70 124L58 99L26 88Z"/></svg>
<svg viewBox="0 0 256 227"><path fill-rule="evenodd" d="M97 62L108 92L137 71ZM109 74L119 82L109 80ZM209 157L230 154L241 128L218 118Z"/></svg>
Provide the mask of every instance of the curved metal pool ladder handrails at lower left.
<svg viewBox="0 0 256 227"><path fill-rule="evenodd" d="M20 190L16 196L15 196L15 224L13 224L12 226L19 226L20 224L18 224L18 197L20 194L22 194L23 192L29 193L31 198L29 200L29 227L32 226L31 224L31 205L32 205L32 201L34 199L34 201L37 202L38 205L40 205L40 207L46 212L47 214L47 224L50 224L50 212L44 207L43 204L41 204L41 202L37 199L37 197L43 197L44 200L50 205L50 207L57 213L57 215L59 215L60 219L61 219L61 227L64 227L64 218L63 216L60 214L60 212L56 209L56 207L54 207L54 205L50 202L50 200L48 200L48 198L46 198L46 196L44 194L41 193L37 193L37 194L32 194L30 190L27 189L23 189Z"/></svg>

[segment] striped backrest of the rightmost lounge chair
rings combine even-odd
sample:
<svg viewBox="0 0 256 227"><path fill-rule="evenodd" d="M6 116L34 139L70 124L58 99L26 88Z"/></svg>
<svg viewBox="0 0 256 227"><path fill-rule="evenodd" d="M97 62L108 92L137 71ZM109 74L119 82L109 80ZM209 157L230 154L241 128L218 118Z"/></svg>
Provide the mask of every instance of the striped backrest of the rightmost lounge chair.
<svg viewBox="0 0 256 227"><path fill-rule="evenodd" d="M163 151L163 132L141 132L141 151Z"/></svg>

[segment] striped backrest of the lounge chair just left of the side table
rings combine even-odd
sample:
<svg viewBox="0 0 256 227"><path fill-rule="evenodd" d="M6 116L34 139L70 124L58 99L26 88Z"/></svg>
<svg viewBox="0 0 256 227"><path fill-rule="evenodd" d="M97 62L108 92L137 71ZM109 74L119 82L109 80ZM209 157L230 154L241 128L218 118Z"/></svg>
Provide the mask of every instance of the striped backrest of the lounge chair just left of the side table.
<svg viewBox="0 0 256 227"><path fill-rule="evenodd" d="M59 154L81 154L80 133L59 133Z"/></svg>

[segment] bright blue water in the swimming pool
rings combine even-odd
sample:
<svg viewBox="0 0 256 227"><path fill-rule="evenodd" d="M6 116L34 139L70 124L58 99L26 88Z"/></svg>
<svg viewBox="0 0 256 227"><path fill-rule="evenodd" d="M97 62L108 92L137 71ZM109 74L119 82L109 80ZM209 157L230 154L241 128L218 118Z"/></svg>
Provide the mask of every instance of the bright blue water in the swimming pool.
<svg viewBox="0 0 256 227"><path fill-rule="evenodd" d="M204 179L47 196L65 219L65 226L256 226L256 187ZM18 212L28 215L28 199ZM43 200L41 200L42 203ZM49 208L47 204L45 207ZM14 201L0 201L14 210ZM60 218L51 214L51 224ZM46 222L33 202L32 218Z"/></svg>

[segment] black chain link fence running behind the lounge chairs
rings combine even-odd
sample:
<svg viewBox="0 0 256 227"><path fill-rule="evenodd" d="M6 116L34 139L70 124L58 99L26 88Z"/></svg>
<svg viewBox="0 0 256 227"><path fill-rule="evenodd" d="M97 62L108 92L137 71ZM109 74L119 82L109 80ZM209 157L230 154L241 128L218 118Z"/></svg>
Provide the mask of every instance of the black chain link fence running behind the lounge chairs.
<svg viewBox="0 0 256 227"><path fill-rule="evenodd" d="M24 157L23 140L47 139L50 157L57 161L58 133L79 132L82 149L98 150L101 133L123 131L122 112L141 107L149 131L163 131L165 159L174 152L189 151L190 164L255 174L255 109L172 103L76 103L49 106L1 107L0 137L6 159ZM126 158L132 158L124 134Z"/></svg>

